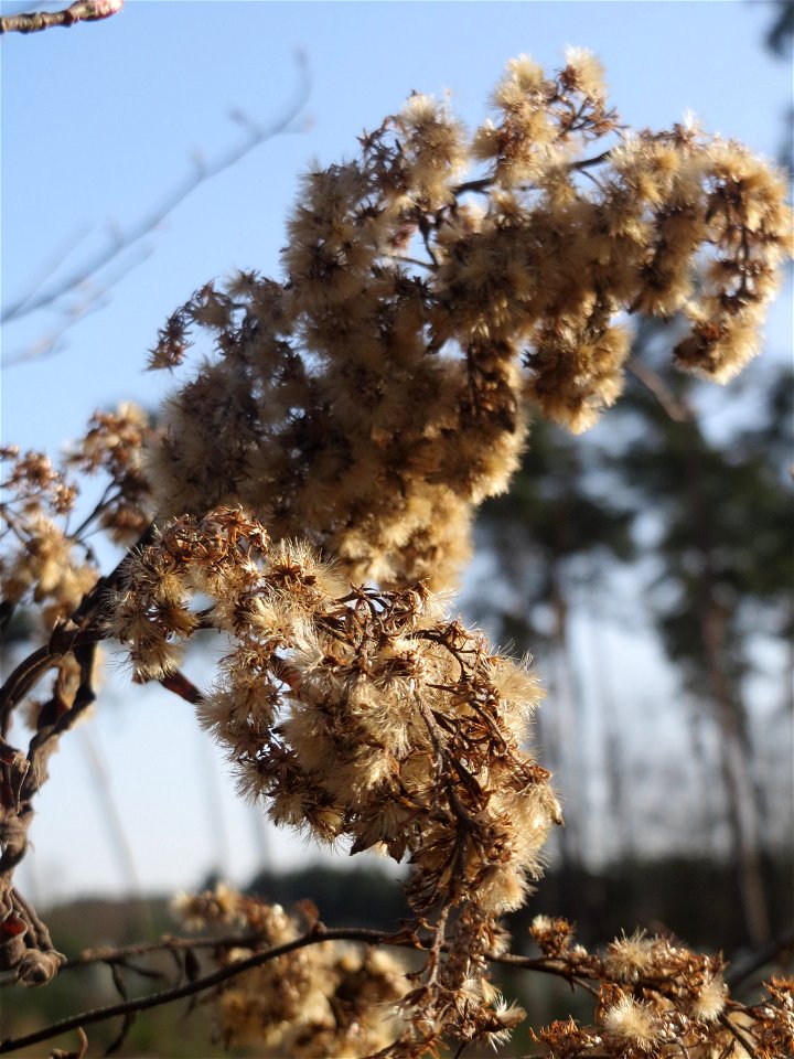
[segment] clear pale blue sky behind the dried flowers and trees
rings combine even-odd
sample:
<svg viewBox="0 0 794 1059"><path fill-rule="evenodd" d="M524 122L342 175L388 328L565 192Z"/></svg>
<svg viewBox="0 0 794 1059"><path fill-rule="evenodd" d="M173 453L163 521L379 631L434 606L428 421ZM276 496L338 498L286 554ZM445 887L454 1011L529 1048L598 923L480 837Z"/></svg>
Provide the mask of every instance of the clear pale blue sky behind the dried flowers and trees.
<svg viewBox="0 0 794 1059"><path fill-rule="evenodd" d="M4 329L3 362L17 363L2 376L3 441L57 452L97 407L157 406L169 379L143 365L168 314L237 267L278 276L285 217L307 163L352 154L355 137L411 89L449 89L474 127L508 58L529 53L552 69L566 45L580 45L603 61L627 124L665 128L693 111L708 130L775 157L792 68L763 47L772 18L760 0L127 0L106 22L4 38L4 306L53 265L43 290L114 231L133 227L196 157L212 164L234 149L245 133L233 111L265 126L277 120L299 87L297 50L311 86L293 131L201 184L76 298ZM75 321L79 304L92 311ZM770 318L770 344L788 350L790 329L788 288ZM60 332L52 352L26 356ZM654 667L639 670L651 694ZM237 805L186 704L159 688L131 693L115 671L94 723L63 740L51 772L26 868L44 899L128 888L112 805L147 889L193 886L222 862L239 880L262 857L285 867L307 856L299 841L262 830ZM110 800L100 803L97 784Z"/></svg>

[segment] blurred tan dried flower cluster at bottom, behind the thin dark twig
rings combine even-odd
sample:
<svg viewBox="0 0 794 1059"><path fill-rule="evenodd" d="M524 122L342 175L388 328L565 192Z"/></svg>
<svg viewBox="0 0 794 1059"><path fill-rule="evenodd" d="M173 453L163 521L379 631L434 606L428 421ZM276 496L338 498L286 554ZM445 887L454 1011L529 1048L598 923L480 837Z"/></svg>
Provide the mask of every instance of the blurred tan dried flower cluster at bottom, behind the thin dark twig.
<svg viewBox="0 0 794 1059"><path fill-rule="evenodd" d="M279 905L218 886L182 895L174 911L190 930L244 927L250 948L219 949L218 966L294 941L312 928ZM228 1046L251 1046L258 1056L320 1059L368 1056L397 1035L396 1004L407 992L405 967L387 950L321 941L245 971L213 997L217 1036Z"/></svg>

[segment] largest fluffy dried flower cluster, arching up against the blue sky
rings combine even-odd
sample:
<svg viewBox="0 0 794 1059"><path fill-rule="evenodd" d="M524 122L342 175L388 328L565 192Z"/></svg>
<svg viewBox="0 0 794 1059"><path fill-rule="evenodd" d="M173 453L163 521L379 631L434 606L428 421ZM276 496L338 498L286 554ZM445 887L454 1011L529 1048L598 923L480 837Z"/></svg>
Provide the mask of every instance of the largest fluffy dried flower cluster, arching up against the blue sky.
<svg viewBox="0 0 794 1059"><path fill-rule="evenodd" d="M286 279L207 285L160 334L217 356L170 400L160 517L240 503L355 582L452 584L472 505L506 488L528 408L581 430L623 386L632 313L683 313L687 370L757 349L791 214L781 175L695 126L632 133L601 68L527 57L468 137L414 95L305 178ZM479 165L484 175L463 180Z"/></svg>

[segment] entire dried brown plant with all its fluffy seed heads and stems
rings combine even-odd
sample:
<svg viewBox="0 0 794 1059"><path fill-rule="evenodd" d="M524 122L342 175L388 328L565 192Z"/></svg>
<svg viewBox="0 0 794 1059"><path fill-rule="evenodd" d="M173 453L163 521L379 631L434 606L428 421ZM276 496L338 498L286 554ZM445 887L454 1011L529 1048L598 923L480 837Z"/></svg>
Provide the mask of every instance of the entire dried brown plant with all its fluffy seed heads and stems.
<svg viewBox="0 0 794 1059"><path fill-rule="evenodd" d="M309 173L283 281L207 285L162 329L152 367L180 365L196 332L214 351L157 430L129 407L97 414L64 470L6 450L2 617L35 605L43 642L1 699L0 961L20 982L47 981L62 958L13 869L49 753L93 700L97 645L114 639L135 681L195 703L242 794L276 822L411 865L415 920L379 935L379 953L340 949L311 917L301 935L225 889L183 899L191 923L253 938L219 944L215 975L165 997L214 987L229 1044L395 1059L498 1045L523 1018L491 983L506 962L593 994L592 1026L535 1031L560 1059L794 1047L791 982L741 1005L720 959L665 940L623 938L599 956L564 921L537 920L543 956L509 956L500 916L526 899L561 823L528 749L541 695L439 595L532 410L579 431L620 397L632 315L683 314L677 363L720 382L757 352L790 237L784 184L695 126L630 132L586 52L552 77L515 61L493 107L469 137L415 95L356 160ZM109 484L74 527L71 475L98 471ZM97 526L136 543L106 578L86 537ZM200 692L180 665L204 629L228 650ZM51 697L30 700L51 670ZM6 737L25 702L22 751Z"/></svg>

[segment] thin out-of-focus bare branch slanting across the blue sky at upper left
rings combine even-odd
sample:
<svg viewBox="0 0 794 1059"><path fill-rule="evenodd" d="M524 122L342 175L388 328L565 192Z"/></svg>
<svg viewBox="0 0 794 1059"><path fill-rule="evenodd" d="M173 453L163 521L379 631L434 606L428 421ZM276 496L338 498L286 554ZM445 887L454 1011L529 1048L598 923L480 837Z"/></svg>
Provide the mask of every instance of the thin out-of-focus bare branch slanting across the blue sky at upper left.
<svg viewBox="0 0 794 1059"><path fill-rule="evenodd" d="M235 111L232 115L233 119L245 130L245 136L239 143L218 156L212 162L196 161L192 172L176 184L149 213L140 217L126 231L119 232L106 246L97 250L87 261L68 272L56 284L40 290L39 293L28 291L17 301L7 306L0 313L0 322L11 323L15 320L21 320L41 309L53 306L74 291L85 288L85 285L90 282L101 269L117 260L121 254L125 254L140 243L146 236L151 235L151 233L202 184L213 180L226 170L232 169L237 162L242 161L247 154L250 154L251 151L268 140L281 133L294 131L291 127L298 115L303 110L311 90L311 78L309 76L305 57L302 53L298 53L296 61L299 72L298 87L294 98L288 104L279 117L268 125L260 125L253 120L250 116ZM103 290L107 290L107 286L103 287ZM79 314L83 314L85 311L86 309L84 307ZM64 328L60 329L57 333L58 338L63 334L64 330L74 322L74 319L77 319L77 317L73 317ZM46 349L49 350L51 345L52 343L49 343ZM8 366L10 363L15 364L24 360L30 360L30 356L24 354L17 355L12 362L7 361L6 363Z"/></svg>

